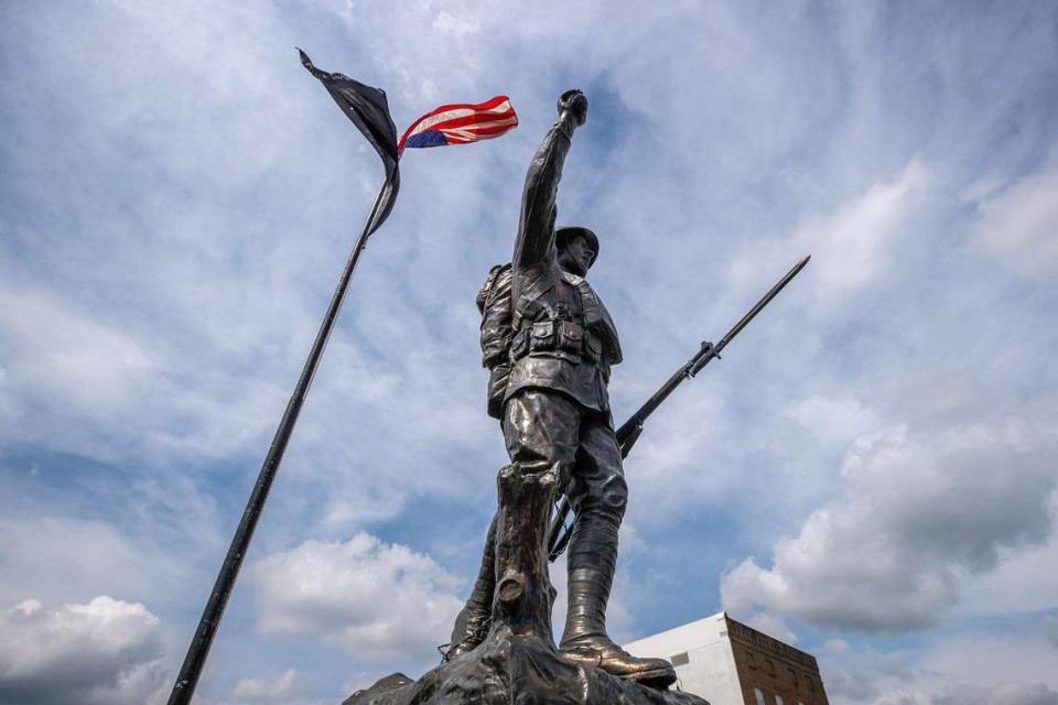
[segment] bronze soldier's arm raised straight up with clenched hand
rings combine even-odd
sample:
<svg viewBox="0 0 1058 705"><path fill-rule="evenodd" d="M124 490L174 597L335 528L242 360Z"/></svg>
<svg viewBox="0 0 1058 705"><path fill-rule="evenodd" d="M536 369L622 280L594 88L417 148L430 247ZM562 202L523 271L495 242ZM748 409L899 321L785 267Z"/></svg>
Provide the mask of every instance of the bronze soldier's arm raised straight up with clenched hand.
<svg viewBox="0 0 1058 705"><path fill-rule="evenodd" d="M554 248L554 202L562 164L570 151L573 130L587 119L587 98L580 90L566 90L559 98L558 108L559 120L543 138L526 174L518 239L511 259L516 270L540 262Z"/></svg>

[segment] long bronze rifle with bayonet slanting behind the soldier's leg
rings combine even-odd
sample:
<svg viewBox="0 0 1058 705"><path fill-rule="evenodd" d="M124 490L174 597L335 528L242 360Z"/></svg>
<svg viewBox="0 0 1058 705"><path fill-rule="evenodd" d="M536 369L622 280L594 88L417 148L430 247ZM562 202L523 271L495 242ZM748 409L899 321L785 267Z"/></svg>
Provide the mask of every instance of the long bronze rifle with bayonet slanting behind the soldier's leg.
<svg viewBox="0 0 1058 705"><path fill-rule="evenodd" d="M639 440L639 436L643 434L643 425L646 423L647 419L661 405L669 394L679 387L683 380L691 379L700 371L702 368L709 365L714 358L720 358L720 354L723 351L727 344L731 343L736 335L738 335L743 328L745 328L753 318L760 313L760 311L767 306L773 299L775 299L782 288L790 283L798 272L805 269L805 265L808 264L808 260L811 259L811 254L807 256L800 262L794 265L794 268L788 271L778 283L773 286L768 293L766 293L760 301L751 308L746 315L744 315L738 323L732 326L731 330L720 339L720 343L713 345L712 343L702 343L702 347L694 354L694 356L687 361L683 367L678 369L668 381L661 386L661 388L654 393L647 402L639 408L636 413L625 423L620 424L620 427L617 429L617 445L620 447L620 457L628 457L628 453L631 451L631 447L636 445L636 441ZM551 530L548 533L548 560L554 561L562 552L565 551L566 544L570 542L570 538L573 535L573 527L566 525L566 519L572 511L570 506L570 500L568 497L563 496L562 500L559 502L559 507L555 511L554 520L551 522ZM576 520L574 519L574 522Z"/></svg>

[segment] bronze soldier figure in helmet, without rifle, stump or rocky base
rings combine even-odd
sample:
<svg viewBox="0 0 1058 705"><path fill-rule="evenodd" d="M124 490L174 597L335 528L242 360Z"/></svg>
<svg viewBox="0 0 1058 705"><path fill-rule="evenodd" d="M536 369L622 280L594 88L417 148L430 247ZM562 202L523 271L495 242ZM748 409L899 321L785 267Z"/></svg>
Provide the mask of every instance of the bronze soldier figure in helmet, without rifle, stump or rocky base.
<svg viewBox="0 0 1058 705"><path fill-rule="evenodd" d="M676 680L663 659L637 659L606 634L606 603L617 562L617 531L628 489L606 384L620 362L609 313L584 280L598 238L583 227L555 229L555 195L573 132L587 99L569 90L559 120L526 175L509 267L494 268L478 296L489 413L500 419L511 463L526 471L559 464L577 513L569 546L569 612L559 644L568 661L652 685ZM495 575L495 527L482 570L460 614L446 659L473 650L488 632Z"/></svg>

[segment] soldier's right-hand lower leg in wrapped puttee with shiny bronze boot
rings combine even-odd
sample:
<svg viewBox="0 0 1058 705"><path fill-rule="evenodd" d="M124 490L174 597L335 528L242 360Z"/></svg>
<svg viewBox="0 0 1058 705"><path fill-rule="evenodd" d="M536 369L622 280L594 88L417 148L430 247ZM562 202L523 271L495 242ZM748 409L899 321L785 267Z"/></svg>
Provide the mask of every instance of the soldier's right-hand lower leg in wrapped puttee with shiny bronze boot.
<svg viewBox="0 0 1058 705"><path fill-rule="evenodd" d="M585 512L570 541L570 611L559 655L579 665L603 669L611 675L655 687L676 682L676 670L665 659L638 659L606 636L606 603L617 565L616 518Z"/></svg>

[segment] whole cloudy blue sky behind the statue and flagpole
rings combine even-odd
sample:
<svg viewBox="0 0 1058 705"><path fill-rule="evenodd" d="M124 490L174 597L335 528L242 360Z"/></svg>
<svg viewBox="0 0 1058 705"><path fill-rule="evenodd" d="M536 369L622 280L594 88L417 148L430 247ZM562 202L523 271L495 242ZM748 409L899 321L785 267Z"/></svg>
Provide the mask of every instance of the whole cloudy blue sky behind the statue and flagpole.
<svg viewBox="0 0 1058 705"><path fill-rule="evenodd" d="M521 124L406 155L198 702L434 662L506 459L474 295L580 87L559 215L602 239L618 421L812 253L629 457L614 636L727 609L834 703L1058 703L1050 3L0 13L0 699L171 687L380 177L296 45L399 129Z"/></svg>

